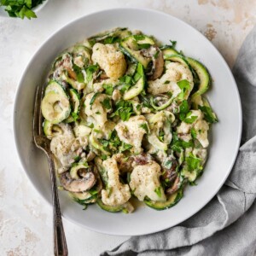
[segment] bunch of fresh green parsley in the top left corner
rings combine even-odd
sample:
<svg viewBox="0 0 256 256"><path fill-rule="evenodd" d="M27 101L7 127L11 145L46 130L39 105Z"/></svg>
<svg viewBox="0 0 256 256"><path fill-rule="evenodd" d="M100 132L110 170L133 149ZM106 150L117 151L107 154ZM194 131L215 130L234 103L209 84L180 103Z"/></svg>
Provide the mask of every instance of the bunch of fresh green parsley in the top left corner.
<svg viewBox="0 0 256 256"><path fill-rule="evenodd" d="M37 15L32 11L32 8L45 0L0 0L0 6L5 6L5 10L10 17L18 17L20 19L37 18Z"/></svg>

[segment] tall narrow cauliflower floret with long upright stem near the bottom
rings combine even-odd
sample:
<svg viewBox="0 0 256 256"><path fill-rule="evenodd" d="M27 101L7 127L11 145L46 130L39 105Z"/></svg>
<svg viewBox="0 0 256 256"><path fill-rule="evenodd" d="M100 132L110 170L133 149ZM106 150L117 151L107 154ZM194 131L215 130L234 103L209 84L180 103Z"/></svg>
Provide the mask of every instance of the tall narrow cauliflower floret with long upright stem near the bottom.
<svg viewBox="0 0 256 256"><path fill-rule="evenodd" d="M130 188L127 184L119 182L119 168L115 155L104 160L102 164L108 172L108 189L102 189L102 202L112 207L125 204L131 198Z"/></svg>

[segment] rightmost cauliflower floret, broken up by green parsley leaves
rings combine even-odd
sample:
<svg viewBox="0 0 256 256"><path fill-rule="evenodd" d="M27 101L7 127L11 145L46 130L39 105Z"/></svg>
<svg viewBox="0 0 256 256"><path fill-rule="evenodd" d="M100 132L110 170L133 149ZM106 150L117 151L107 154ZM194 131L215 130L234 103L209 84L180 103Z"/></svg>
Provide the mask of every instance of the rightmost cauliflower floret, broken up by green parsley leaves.
<svg viewBox="0 0 256 256"><path fill-rule="evenodd" d="M209 125L207 124L207 121L203 119L203 113L201 113L201 110L191 110L191 114L189 117L196 116L196 119L192 124L188 124L186 122L182 122L177 127L177 133L180 134L182 137L186 138L184 140L188 141L190 137L191 129L194 127L196 132L196 138L201 143L203 148L207 148L209 145L209 141L207 138L207 133L209 130ZM188 137L188 136L189 137Z"/></svg>

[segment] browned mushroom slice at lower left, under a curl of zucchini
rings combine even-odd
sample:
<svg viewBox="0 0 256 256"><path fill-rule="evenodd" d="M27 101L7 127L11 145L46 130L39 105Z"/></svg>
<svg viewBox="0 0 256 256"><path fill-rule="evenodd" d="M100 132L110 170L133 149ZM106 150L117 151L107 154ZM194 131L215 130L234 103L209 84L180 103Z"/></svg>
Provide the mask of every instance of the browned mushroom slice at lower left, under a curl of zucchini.
<svg viewBox="0 0 256 256"><path fill-rule="evenodd" d="M91 189L96 183L96 177L93 172L86 172L82 178L73 179L69 172L63 172L60 182L65 190L78 193Z"/></svg>

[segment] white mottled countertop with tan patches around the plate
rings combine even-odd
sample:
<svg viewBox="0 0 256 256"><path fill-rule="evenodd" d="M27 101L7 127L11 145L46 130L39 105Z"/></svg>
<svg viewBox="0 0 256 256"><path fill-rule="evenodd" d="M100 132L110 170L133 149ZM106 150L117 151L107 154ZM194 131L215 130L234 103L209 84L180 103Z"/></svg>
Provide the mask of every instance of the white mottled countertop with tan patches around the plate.
<svg viewBox="0 0 256 256"><path fill-rule="evenodd" d="M32 187L15 150L12 112L20 76L39 45L61 26L117 7L158 9L186 21L212 41L230 67L256 23L255 0L49 0L38 19L0 17L0 255L53 255L52 209ZM128 239L66 220L64 225L69 255L99 255Z"/></svg>

